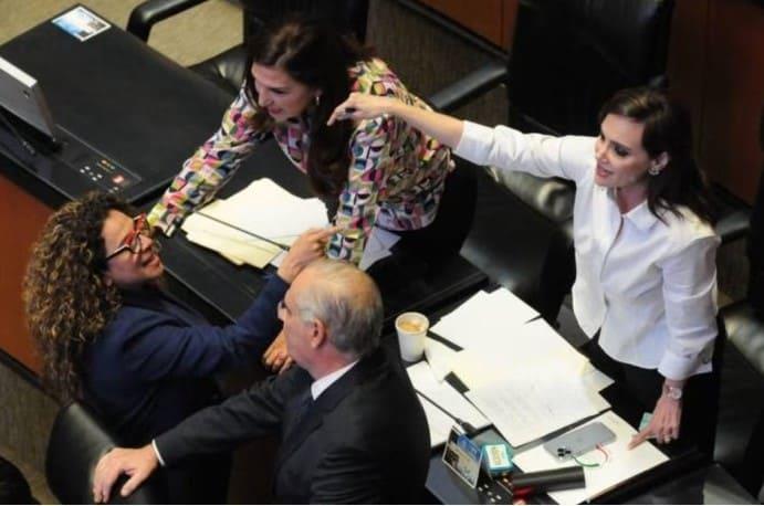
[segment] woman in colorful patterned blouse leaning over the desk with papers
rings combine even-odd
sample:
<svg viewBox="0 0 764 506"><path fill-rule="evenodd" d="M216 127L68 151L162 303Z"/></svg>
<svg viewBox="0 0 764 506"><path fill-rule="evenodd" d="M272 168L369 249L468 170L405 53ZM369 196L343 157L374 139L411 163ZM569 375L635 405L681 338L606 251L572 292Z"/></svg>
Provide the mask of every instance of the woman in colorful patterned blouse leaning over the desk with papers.
<svg viewBox="0 0 764 506"><path fill-rule="evenodd" d="M313 190L336 208L342 231L327 244L329 256L359 263L374 226L400 232L401 245L427 244L427 254L459 250L471 221L469 203L459 204L459 223L449 217L433 225L453 169L446 146L394 116L326 125L349 92L428 108L385 62L299 18L263 29L249 57L251 72L220 129L184 164L151 210L151 225L171 234L273 134Z"/></svg>

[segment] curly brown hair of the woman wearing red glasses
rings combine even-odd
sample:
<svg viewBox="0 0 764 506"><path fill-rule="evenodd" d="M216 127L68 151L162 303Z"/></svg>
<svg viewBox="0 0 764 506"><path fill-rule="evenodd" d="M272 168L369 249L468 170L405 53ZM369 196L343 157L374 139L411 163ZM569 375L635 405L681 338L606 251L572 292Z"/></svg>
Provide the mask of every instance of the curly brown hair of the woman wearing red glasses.
<svg viewBox="0 0 764 506"><path fill-rule="evenodd" d="M43 384L60 401L82 397L80 359L122 305L104 280L102 230L111 210L133 215L118 198L92 192L64 204L32 247L23 280L27 325L43 361Z"/></svg>

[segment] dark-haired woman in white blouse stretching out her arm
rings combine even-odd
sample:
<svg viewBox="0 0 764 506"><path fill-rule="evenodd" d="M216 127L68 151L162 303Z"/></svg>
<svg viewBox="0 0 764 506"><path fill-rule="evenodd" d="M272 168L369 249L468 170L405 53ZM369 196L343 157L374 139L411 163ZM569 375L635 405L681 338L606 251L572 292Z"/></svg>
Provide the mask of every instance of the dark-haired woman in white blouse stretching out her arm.
<svg viewBox="0 0 764 506"><path fill-rule="evenodd" d="M661 92L625 89L603 107L599 137L552 137L353 94L329 122L384 114L474 164L573 180L576 318L596 337L595 365L655 407L631 444L671 442L680 425L692 441L713 441L720 241L682 109Z"/></svg>

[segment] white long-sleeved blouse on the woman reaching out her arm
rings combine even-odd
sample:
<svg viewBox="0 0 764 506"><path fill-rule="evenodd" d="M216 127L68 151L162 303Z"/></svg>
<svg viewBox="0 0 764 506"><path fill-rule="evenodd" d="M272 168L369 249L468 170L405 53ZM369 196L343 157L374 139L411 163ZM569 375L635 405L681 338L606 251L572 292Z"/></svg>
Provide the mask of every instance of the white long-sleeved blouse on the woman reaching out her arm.
<svg viewBox="0 0 764 506"><path fill-rule="evenodd" d="M647 202L621 214L613 190L595 185L595 141L464 122L454 152L500 170L573 180L573 309L580 327L589 337L599 329L599 345L618 361L674 380L708 372L720 240L687 208L683 218L660 212L663 221Z"/></svg>

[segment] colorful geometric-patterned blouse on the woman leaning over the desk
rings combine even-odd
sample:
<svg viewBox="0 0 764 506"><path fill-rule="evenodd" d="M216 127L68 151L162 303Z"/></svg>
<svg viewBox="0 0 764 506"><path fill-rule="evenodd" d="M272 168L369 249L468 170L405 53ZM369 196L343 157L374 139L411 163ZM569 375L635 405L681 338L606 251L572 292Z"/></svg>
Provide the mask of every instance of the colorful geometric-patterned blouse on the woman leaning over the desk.
<svg viewBox="0 0 764 506"><path fill-rule="evenodd" d="M429 108L411 94L381 60L359 62L350 68L353 91L394 96ZM148 220L168 235L193 209L208 202L270 131L258 131L251 118L258 112L242 87L226 112L220 129L185 164ZM284 154L306 172L311 145L306 117L272 127ZM376 224L391 231L428 225L438 211L444 181L453 169L450 150L402 120L381 116L362 120L350 136L347 183L338 197L335 224L343 228L327 245L332 257L356 264Z"/></svg>

